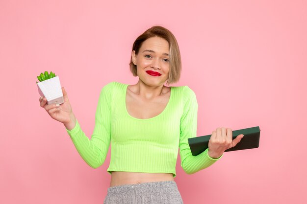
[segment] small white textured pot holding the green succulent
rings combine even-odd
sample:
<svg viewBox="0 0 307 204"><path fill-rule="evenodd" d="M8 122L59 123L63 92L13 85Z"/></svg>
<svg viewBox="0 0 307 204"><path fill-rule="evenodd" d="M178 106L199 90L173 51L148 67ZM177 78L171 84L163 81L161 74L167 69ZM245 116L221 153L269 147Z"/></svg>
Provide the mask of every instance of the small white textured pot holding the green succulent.
<svg viewBox="0 0 307 204"><path fill-rule="evenodd" d="M46 97L48 105L64 103L62 87L58 76L38 82L37 88L39 94Z"/></svg>

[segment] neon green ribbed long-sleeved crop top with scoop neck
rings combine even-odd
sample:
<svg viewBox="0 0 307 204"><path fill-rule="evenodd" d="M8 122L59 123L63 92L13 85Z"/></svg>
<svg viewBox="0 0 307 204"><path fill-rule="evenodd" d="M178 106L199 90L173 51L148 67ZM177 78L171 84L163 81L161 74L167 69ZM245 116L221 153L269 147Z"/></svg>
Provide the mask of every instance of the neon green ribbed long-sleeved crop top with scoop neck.
<svg viewBox="0 0 307 204"><path fill-rule="evenodd" d="M78 153L93 168L101 166L111 143L107 171L172 173L176 177L178 148L181 167L187 174L200 171L216 160L206 149L192 156L188 138L197 131L198 103L188 86L170 87L170 99L162 113L148 119L129 115L126 109L128 84L111 82L102 88L89 139L77 121L67 130Z"/></svg>

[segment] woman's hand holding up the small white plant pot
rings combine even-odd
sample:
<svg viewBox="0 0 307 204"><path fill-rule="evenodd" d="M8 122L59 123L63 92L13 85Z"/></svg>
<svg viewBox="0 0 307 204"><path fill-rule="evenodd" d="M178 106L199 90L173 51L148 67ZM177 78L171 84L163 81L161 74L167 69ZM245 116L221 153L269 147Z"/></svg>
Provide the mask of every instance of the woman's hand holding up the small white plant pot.
<svg viewBox="0 0 307 204"><path fill-rule="evenodd" d="M40 97L39 102L40 106L44 108L47 113L53 118L63 124L71 123L75 117L70 102L68 100L67 92L62 87L64 103L60 105L50 104L47 105L47 99L45 97Z"/></svg>

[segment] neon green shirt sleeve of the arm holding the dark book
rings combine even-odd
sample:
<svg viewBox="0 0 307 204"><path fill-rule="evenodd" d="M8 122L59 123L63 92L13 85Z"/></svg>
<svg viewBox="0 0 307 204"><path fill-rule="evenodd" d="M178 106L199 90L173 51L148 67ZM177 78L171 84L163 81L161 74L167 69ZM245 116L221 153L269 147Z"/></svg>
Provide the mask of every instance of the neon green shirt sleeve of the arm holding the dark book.
<svg viewBox="0 0 307 204"><path fill-rule="evenodd" d="M198 103L194 91L188 86L183 90L184 110L180 119L179 154L181 167L187 174L194 174L216 162L208 155L208 149L197 156L193 156L189 147L188 138L196 137L197 134L197 111Z"/></svg>

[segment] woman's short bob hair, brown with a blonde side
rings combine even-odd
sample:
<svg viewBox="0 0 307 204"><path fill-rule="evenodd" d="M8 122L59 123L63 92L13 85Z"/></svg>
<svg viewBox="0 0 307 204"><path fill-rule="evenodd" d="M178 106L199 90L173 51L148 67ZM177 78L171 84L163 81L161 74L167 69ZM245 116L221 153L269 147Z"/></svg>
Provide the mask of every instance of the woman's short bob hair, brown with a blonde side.
<svg viewBox="0 0 307 204"><path fill-rule="evenodd" d="M132 51L134 50L135 54L137 55L140 50L140 47L142 46L142 43L151 37L160 37L168 42L170 47L169 51L170 70L169 70L167 84L173 84L178 82L181 73L181 57L177 40L171 31L159 25L149 28L142 35L137 37L137 39L134 41L132 46ZM129 65L133 76L137 76L136 65L134 65L132 62L132 56Z"/></svg>

